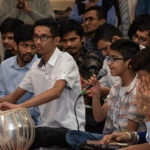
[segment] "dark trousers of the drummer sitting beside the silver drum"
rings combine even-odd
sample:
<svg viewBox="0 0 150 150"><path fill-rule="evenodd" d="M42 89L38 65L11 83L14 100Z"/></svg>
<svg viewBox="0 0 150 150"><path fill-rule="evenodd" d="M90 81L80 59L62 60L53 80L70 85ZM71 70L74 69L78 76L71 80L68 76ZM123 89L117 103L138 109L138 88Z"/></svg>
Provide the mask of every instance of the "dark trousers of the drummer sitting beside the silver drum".
<svg viewBox="0 0 150 150"><path fill-rule="evenodd" d="M67 131L68 129L65 128L36 127L35 139L30 150L52 146L67 148L68 145L65 140Z"/></svg>

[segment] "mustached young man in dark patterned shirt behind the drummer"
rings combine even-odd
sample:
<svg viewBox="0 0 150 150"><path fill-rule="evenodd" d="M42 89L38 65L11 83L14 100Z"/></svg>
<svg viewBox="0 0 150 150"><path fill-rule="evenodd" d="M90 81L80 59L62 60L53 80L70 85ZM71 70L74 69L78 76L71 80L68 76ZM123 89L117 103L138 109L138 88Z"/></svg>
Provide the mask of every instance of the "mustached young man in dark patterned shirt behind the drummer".
<svg viewBox="0 0 150 150"><path fill-rule="evenodd" d="M83 29L78 22L71 19L62 21L60 37L63 51L73 56L83 79L87 80L93 74L98 74L102 64L94 52L84 47Z"/></svg>

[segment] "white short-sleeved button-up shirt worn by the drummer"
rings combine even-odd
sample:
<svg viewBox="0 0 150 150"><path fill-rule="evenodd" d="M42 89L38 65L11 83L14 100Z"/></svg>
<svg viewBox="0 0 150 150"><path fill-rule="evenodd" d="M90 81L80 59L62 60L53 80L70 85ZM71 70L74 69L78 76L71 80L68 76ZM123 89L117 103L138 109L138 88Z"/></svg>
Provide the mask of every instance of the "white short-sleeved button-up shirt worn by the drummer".
<svg viewBox="0 0 150 150"><path fill-rule="evenodd" d="M76 130L74 104L81 92L81 84L78 67L74 59L68 53L61 52L56 48L48 62L45 65L39 65L39 61L33 64L20 87L38 95L52 88L57 80L65 80L67 85L60 98L39 105L41 120L43 126ZM85 105L83 97L78 100L76 112L80 130L84 130Z"/></svg>

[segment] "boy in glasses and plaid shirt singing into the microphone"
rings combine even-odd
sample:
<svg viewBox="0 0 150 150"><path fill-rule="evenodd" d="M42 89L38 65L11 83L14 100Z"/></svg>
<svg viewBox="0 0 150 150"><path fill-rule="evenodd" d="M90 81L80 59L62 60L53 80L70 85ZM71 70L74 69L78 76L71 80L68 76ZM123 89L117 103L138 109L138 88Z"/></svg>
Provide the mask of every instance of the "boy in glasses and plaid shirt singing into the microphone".
<svg viewBox="0 0 150 150"><path fill-rule="evenodd" d="M139 50L139 46L130 40L117 40L111 45L109 52L110 72L112 76L119 76L121 83L111 88L103 106L99 101L100 83L95 75L89 80L89 83L93 85L91 91L94 118L97 122L106 119L103 134L69 131L66 140L73 148L79 149L79 143L89 140L98 140L96 141L98 143L105 134L112 132L145 130L144 117L138 114L132 104L132 96L136 94L137 78L129 65Z"/></svg>

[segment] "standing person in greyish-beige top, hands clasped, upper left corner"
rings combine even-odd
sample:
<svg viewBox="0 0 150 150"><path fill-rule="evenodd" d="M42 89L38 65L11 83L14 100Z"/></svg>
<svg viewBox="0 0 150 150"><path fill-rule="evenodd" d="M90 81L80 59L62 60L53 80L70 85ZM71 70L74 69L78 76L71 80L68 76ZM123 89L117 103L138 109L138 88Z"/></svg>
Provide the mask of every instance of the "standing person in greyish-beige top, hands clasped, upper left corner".
<svg viewBox="0 0 150 150"><path fill-rule="evenodd" d="M55 18L49 0L2 0L0 5L0 23L13 17L33 24L40 18Z"/></svg>

